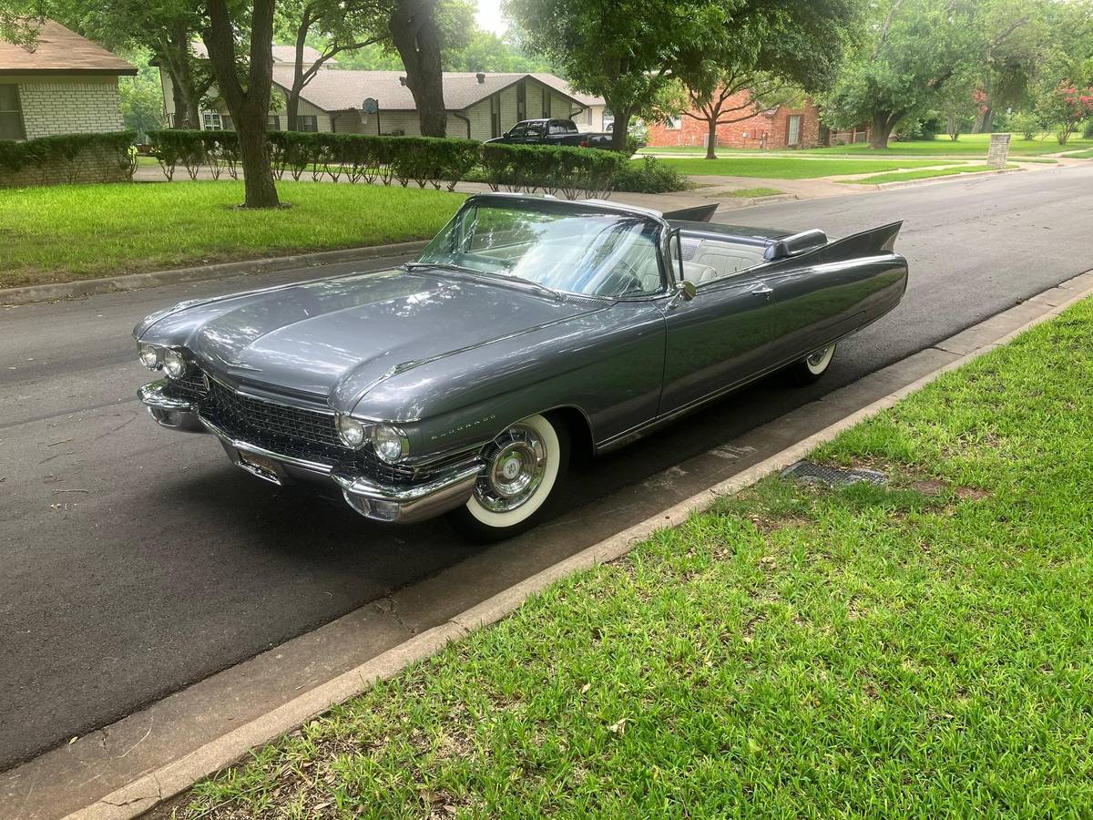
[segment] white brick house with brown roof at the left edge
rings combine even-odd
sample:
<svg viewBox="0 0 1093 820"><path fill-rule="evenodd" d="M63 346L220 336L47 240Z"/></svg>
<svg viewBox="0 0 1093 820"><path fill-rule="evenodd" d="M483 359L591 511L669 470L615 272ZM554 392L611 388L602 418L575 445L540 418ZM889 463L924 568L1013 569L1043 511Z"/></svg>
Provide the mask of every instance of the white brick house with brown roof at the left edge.
<svg viewBox="0 0 1093 820"><path fill-rule="evenodd" d="M120 131L118 77L137 69L46 21L34 47L0 43L0 140Z"/></svg>

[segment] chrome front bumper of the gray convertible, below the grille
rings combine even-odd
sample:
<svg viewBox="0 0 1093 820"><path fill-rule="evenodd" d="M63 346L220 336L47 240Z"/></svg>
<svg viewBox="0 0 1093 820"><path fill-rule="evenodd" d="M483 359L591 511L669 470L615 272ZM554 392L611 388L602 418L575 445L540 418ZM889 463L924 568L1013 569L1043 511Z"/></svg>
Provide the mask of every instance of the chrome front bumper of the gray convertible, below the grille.
<svg viewBox="0 0 1093 820"><path fill-rule="evenodd" d="M473 462L420 484L384 484L366 476L332 469L329 465L274 453L234 438L208 419L202 419L189 401L165 396L166 386L165 380L153 382L137 391L137 397L161 426L212 433L232 464L274 484L291 483L294 479L333 482L341 488L345 503L371 520L413 524L462 506L470 500L482 469L480 464Z"/></svg>

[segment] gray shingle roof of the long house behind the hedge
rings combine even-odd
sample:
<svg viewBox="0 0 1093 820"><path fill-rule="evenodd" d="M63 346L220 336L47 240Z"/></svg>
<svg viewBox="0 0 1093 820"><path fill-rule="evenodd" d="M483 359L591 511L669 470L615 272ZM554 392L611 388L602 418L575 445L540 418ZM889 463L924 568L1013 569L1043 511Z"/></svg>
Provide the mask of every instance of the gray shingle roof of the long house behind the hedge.
<svg viewBox="0 0 1093 820"><path fill-rule="evenodd" d="M413 95L399 81L401 77L406 77L406 71L322 70L304 86L302 96L325 112L360 108L367 97L378 99L380 110L414 110ZM471 71L444 72L444 104L448 110L462 110L525 77L532 77L581 105L596 104L586 102L593 97L573 93L568 83L553 74L486 73L485 82L480 83L477 73ZM274 66L273 80L285 89L291 87L292 67ZM602 105L602 101L599 104Z"/></svg>

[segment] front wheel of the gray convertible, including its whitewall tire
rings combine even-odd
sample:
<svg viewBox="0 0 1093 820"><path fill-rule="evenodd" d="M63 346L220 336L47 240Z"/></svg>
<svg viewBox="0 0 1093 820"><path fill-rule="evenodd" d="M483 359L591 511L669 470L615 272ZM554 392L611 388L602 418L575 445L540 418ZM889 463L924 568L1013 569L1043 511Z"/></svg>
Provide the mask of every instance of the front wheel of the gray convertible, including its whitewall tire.
<svg viewBox="0 0 1093 820"><path fill-rule="evenodd" d="M500 541L533 527L569 464L564 424L531 415L508 427L483 452L485 466L466 505L448 523L474 541Z"/></svg>

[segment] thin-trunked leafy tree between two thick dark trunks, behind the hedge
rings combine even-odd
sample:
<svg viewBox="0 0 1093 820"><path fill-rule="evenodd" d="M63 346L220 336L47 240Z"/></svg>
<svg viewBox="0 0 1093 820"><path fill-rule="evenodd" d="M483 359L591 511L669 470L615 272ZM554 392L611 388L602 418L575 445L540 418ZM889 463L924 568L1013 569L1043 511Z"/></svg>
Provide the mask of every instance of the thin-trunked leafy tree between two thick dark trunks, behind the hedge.
<svg viewBox="0 0 1093 820"><path fill-rule="evenodd" d="M299 95L318 71L343 51L352 51L388 39L383 31L385 4L381 0L281 0L279 30L295 46L292 86L285 95L289 130L298 128ZM308 42L317 42L319 56L304 59Z"/></svg>

